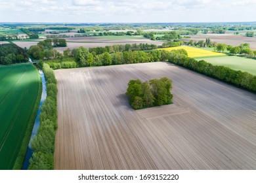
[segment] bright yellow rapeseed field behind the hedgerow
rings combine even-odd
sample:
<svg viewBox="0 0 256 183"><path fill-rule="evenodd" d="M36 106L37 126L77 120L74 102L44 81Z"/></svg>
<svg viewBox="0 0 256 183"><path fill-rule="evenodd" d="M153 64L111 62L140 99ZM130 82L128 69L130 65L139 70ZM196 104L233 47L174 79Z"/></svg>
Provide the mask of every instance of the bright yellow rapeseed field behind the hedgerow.
<svg viewBox="0 0 256 183"><path fill-rule="evenodd" d="M219 53L219 52L212 52L209 50L203 50L200 48L193 48L190 46L177 46L177 47L171 47L171 48L160 48L159 50L177 50L177 49L184 49L186 52L188 52L188 57L190 58L198 58L198 57L208 57L208 56L224 56L225 54Z"/></svg>

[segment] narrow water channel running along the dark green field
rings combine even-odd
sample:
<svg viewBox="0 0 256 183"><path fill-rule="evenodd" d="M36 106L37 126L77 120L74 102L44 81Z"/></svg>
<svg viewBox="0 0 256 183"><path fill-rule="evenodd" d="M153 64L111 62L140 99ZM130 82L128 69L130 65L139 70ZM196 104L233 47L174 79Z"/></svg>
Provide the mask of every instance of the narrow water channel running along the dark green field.
<svg viewBox="0 0 256 183"><path fill-rule="evenodd" d="M32 131L32 135L30 137L30 141L37 134L37 129L39 128L39 125L40 125L40 123L39 123L40 107L43 105L43 102L45 101L45 99L47 97L45 74L41 70L39 70L39 73L41 75L43 88L42 88L41 101L40 101L40 104L39 104L39 108L37 110L37 116L35 118L35 124L33 125L33 131ZM27 170L28 169L28 166L30 165L30 158L32 157L32 153L33 153L33 151L31 149L31 144L28 144L28 150L27 150L27 153L26 153L26 158L25 158L24 163L22 165L22 170Z"/></svg>

